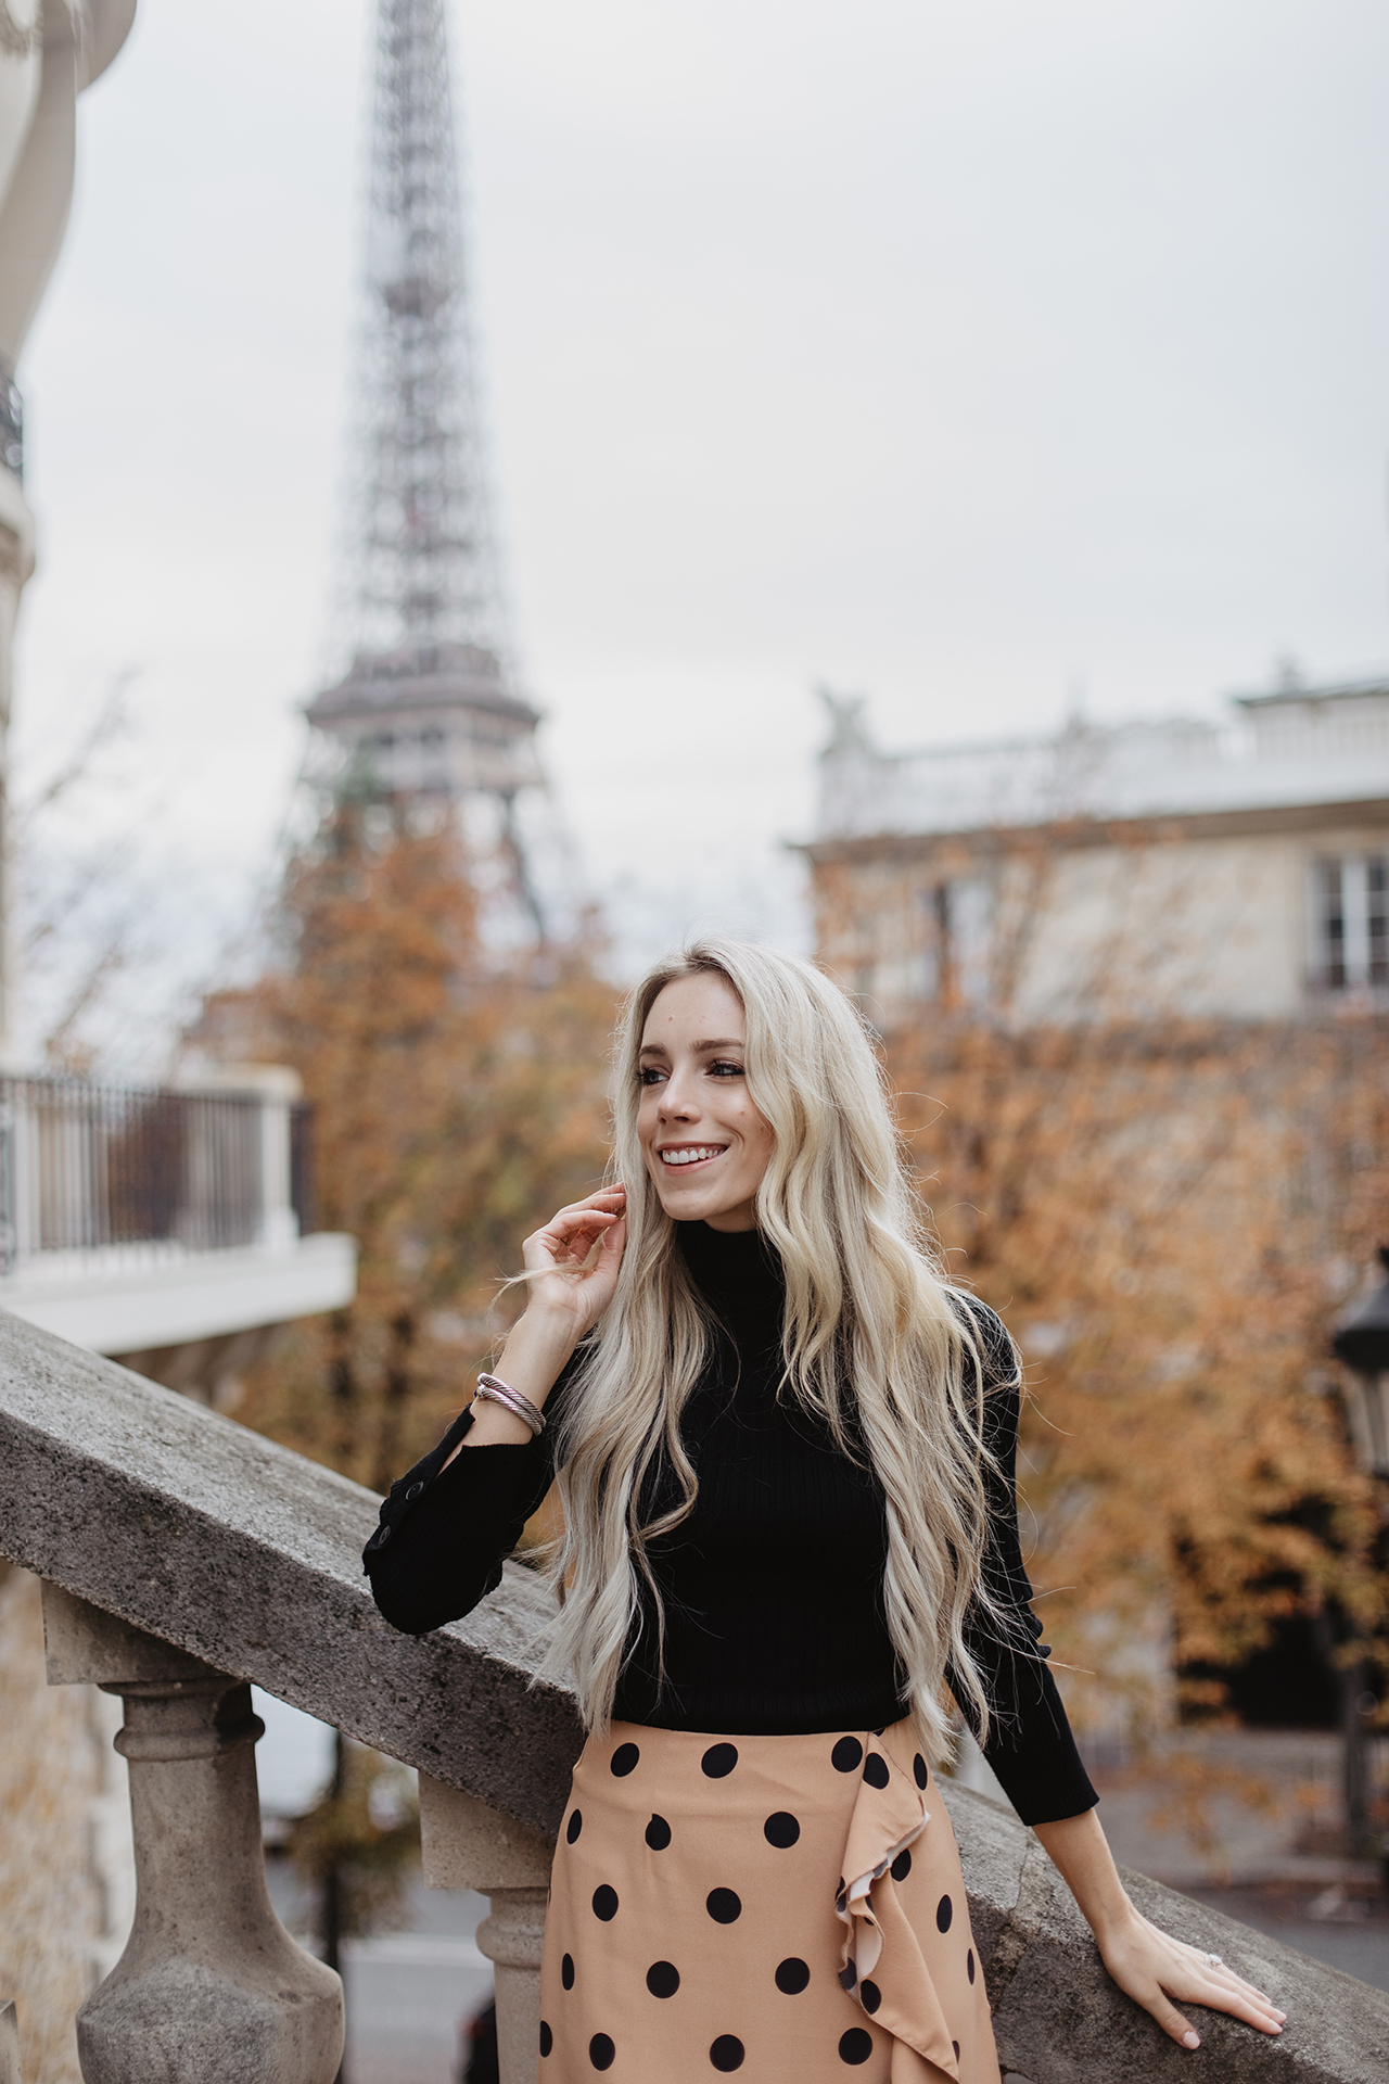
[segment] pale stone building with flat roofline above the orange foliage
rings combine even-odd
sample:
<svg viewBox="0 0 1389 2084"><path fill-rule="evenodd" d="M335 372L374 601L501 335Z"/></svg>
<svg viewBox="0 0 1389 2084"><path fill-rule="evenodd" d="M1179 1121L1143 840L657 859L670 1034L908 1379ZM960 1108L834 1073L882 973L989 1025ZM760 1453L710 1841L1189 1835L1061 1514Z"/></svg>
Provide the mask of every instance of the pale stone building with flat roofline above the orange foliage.
<svg viewBox="0 0 1389 2084"><path fill-rule="evenodd" d="M1389 1004L1389 677L918 752L831 709L816 946L885 1025Z"/></svg>

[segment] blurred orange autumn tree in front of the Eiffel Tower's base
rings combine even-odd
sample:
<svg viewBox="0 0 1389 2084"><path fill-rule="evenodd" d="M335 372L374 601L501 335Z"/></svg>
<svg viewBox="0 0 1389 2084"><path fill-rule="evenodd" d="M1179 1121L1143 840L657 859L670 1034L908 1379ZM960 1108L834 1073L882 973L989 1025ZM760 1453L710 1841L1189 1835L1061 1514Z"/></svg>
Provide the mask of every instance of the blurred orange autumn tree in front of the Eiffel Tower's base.
<svg viewBox="0 0 1389 2084"><path fill-rule="evenodd" d="M602 1175L614 994L583 946L489 950L454 825L379 802L292 861L279 936L260 1048L304 1080L319 1223L360 1267L242 1415L383 1488L466 1400L523 1236Z"/></svg>

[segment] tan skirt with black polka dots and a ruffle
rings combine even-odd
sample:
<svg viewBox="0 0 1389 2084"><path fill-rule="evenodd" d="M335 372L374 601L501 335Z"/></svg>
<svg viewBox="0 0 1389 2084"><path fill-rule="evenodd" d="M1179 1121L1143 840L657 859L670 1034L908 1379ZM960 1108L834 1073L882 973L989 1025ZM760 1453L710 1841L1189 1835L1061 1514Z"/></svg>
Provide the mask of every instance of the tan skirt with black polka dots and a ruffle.
<svg viewBox="0 0 1389 2084"><path fill-rule="evenodd" d="M960 1855L912 1726L589 1740L539 2009L539 2084L1000 2084Z"/></svg>

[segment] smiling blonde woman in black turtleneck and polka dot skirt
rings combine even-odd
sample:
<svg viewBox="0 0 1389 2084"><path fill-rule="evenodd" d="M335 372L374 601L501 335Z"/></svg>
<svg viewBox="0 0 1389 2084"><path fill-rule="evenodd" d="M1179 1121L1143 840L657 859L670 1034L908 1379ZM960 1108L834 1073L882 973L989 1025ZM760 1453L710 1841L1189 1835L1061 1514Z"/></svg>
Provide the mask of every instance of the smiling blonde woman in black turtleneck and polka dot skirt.
<svg viewBox="0 0 1389 2084"><path fill-rule="evenodd" d="M1283 2013L1137 1915L1037 1646L1018 1363L923 1242L860 1019L700 942L633 994L618 1186L525 1244L496 1375L394 1486L377 1605L423 1632L558 1475L548 1669L589 1738L554 1861L539 2078L997 2084L950 1817L945 1688L1114 1980Z"/></svg>

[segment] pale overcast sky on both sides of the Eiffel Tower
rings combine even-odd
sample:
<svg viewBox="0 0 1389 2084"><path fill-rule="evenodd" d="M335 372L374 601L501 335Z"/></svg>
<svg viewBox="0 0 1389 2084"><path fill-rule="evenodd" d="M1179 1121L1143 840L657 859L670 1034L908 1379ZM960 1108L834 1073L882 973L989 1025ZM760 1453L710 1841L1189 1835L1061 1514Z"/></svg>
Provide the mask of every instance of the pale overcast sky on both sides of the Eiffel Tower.
<svg viewBox="0 0 1389 2084"><path fill-rule="evenodd" d="M21 363L21 750L137 667L187 890L298 765L364 50L140 0ZM918 744L1389 656L1383 0L454 0L454 63L519 648L635 940L795 936L818 679Z"/></svg>

